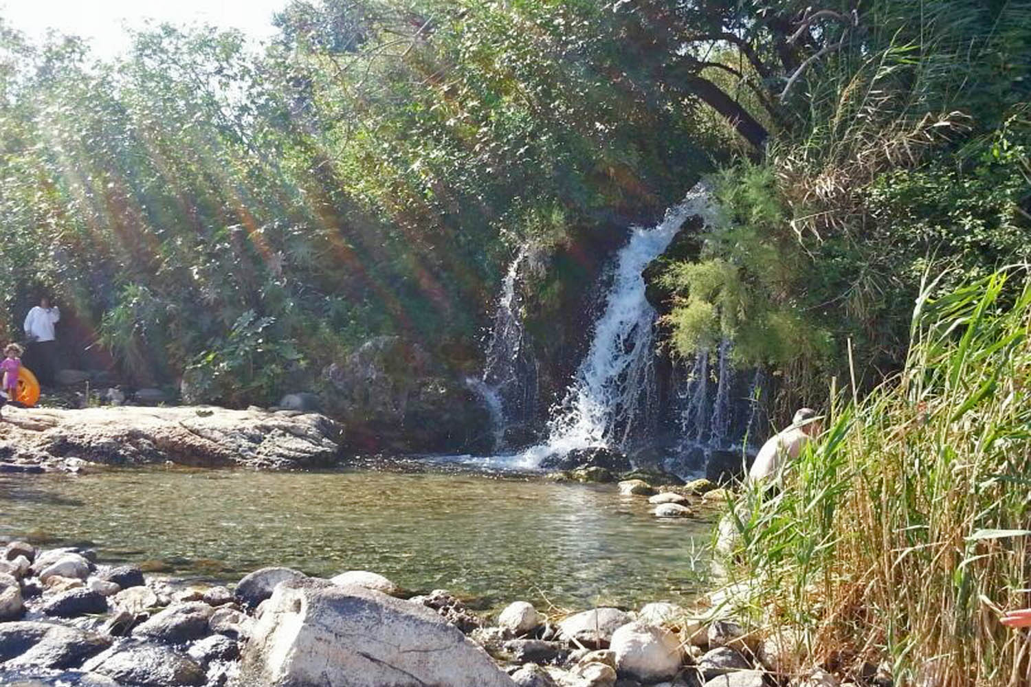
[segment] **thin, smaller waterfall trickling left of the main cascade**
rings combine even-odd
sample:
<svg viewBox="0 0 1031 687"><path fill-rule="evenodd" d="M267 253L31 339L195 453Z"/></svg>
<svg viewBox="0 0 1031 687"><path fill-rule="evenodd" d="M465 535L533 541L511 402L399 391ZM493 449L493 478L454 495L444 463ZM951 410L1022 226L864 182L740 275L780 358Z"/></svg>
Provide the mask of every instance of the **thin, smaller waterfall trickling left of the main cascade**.
<svg viewBox="0 0 1031 687"><path fill-rule="evenodd" d="M504 447L505 430L510 424L533 417L537 401L537 364L526 346L516 293L520 268L526 259L524 247L508 265L501 282L484 374L479 379L466 380L491 415L495 451Z"/></svg>

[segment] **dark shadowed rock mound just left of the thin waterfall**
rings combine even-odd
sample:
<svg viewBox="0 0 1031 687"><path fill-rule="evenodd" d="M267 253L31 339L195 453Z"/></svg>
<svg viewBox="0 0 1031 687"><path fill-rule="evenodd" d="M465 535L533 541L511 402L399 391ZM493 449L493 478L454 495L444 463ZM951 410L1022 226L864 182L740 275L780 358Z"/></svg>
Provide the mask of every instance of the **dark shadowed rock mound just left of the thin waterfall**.
<svg viewBox="0 0 1031 687"><path fill-rule="evenodd" d="M490 416L458 375L419 344L376 337L323 371L326 411L363 451L487 450Z"/></svg>

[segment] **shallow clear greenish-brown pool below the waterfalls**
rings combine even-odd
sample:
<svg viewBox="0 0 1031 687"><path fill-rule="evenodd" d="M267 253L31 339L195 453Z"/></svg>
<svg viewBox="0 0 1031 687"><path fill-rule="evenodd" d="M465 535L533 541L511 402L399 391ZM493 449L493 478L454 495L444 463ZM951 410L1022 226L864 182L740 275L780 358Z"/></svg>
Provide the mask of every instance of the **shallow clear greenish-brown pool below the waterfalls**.
<svg viewBox="0 0 1031 687"><path fill-rule="evenodd" d="M614 487L477 474L179 468L0 475L0 537L219 582L265 565L386 575L487 608L701 591L710 525L657 521Z"/></svg>

